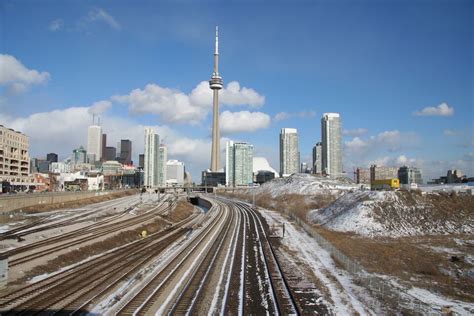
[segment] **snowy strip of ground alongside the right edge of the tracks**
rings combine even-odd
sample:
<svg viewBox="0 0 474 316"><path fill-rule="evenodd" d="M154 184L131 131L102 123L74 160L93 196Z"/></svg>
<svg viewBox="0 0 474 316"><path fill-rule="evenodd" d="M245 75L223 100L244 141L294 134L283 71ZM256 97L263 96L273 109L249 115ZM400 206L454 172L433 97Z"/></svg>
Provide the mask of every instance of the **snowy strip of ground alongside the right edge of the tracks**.
<svg viewBox="0 0 474 316"><path fill-rule="evenodd" d="M374 304L374 299L363 288L355 285L347 272L336 267L331 255L321 248L315 239L291 224L279 213L260 210L270 226L285 224L285 237L281 242L291 251L297 252L296 257L306 263L314 275L327 287L329 299L333 304L326 305L330 306L336 315L378 314L378 306Z"/></svg>

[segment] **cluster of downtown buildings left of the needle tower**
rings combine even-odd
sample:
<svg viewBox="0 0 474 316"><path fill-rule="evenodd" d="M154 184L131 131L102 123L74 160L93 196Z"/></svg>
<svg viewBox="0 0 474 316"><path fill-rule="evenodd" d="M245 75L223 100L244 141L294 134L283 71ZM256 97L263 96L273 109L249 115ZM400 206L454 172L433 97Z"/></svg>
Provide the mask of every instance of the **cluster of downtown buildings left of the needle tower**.
<svg viewBox="0 0 474 316"><path fill-rule="evenodd" d="M183 162L167 160L166 146L145 137L145 153L139 164L132 161L132 141L122 139L107 146L107 134L93 124L87 130L87 145L58 160L56 153L31 158L29 137L0 125L0 193L112 190L120 188L182 186L191 177ZM160 144L160 145L158 145ZM148 167L145 166L148 164Z"/></svg>

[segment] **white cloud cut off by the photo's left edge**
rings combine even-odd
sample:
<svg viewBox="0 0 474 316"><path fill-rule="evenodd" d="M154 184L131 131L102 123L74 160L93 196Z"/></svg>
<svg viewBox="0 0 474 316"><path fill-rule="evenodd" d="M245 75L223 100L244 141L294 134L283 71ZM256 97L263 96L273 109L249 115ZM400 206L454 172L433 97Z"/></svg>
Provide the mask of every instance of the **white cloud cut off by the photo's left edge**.
<svg viewBox="0 0 474 316"><path fill-rule="evenodd" d="M48 72L28 69L15 57L0 54L0 85L6 86L8 94L22 93L30 85L45 83L49 78Z"/></svg>

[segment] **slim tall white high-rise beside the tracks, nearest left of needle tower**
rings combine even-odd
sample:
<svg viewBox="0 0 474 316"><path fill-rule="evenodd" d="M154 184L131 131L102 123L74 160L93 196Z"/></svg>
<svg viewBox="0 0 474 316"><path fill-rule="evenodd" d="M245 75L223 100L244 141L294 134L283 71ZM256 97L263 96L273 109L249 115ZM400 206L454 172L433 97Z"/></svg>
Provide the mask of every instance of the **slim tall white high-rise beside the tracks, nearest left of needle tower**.
<svg viewBox="0 0 474 316"><path fill-rule="evenodd" d="M145 161L143 166L144 185L146 187L156 187L159 185L158 157L159 157L160 136L155 133L153 127L145 127Z"/></svg>

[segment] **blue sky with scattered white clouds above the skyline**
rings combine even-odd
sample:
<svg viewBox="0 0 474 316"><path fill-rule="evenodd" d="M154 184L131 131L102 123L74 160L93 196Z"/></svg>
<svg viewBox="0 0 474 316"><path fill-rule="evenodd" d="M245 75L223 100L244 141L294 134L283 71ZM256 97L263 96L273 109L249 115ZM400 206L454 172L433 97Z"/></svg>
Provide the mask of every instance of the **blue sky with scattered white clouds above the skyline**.
<svg viewBox="0 0 474 316"><path fill-rule="evenodd" d="M282 127L298 128L309 162L322 114L339 112L349 173L378 163L473 176L473 12L456 0L2 1L0 123L30 136L32 156L66 158L97 112L110 145L134 141L135 160L156 125L199 179L211 120L200 83L218 24L234 82L223 136L275 169Z"/></svg>

